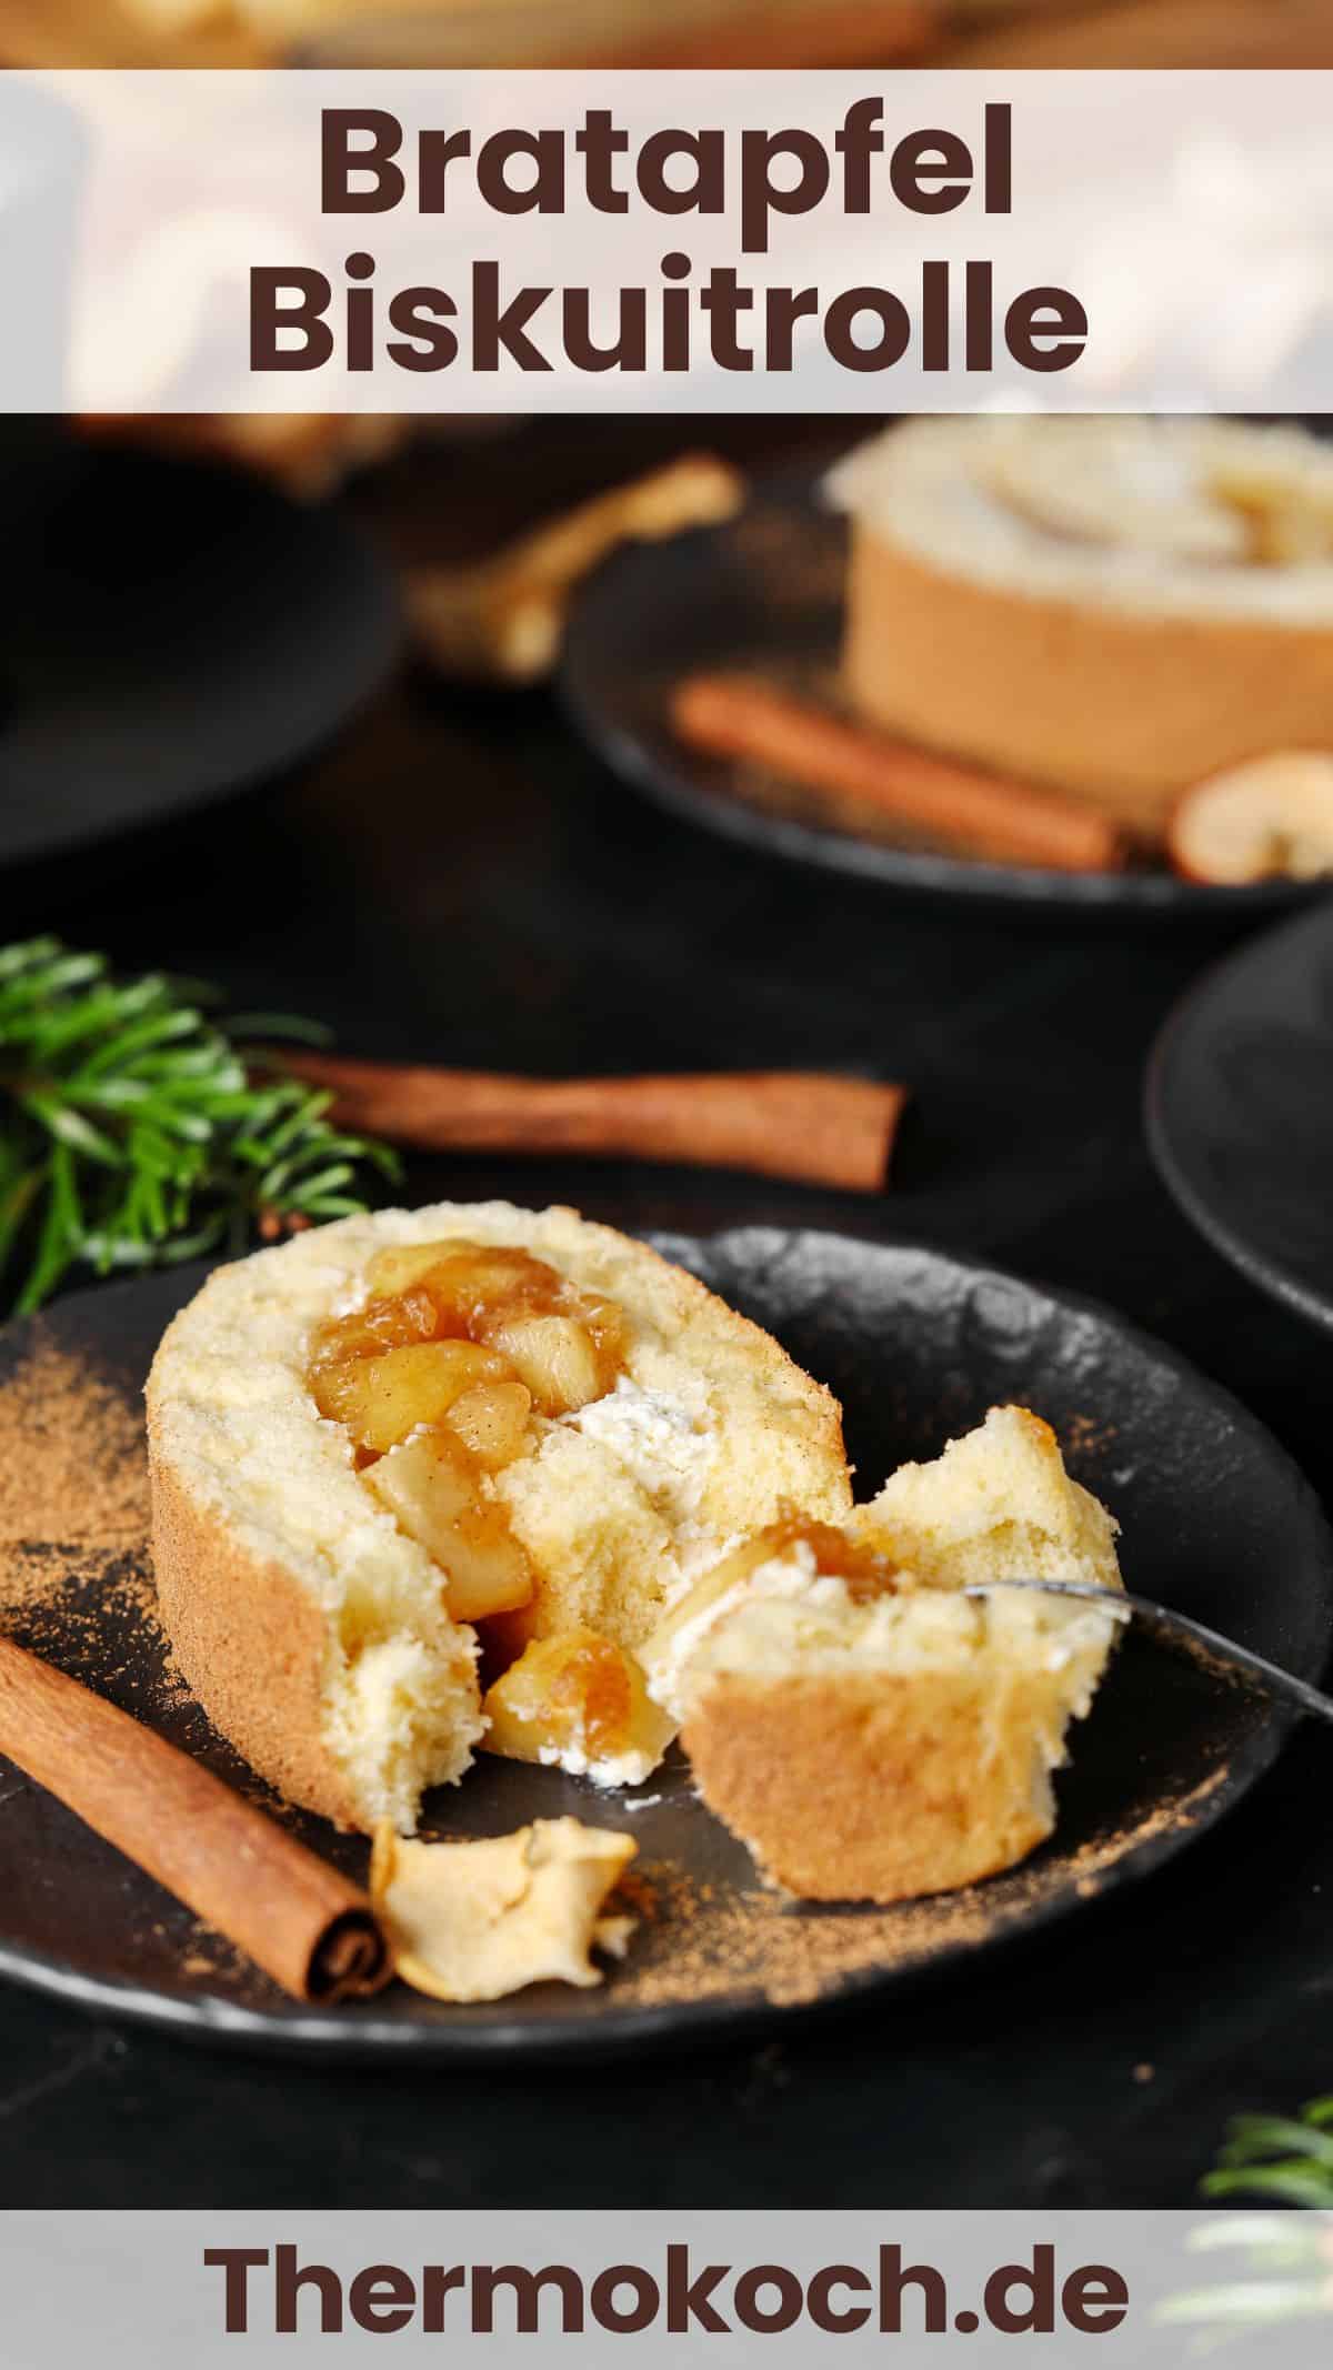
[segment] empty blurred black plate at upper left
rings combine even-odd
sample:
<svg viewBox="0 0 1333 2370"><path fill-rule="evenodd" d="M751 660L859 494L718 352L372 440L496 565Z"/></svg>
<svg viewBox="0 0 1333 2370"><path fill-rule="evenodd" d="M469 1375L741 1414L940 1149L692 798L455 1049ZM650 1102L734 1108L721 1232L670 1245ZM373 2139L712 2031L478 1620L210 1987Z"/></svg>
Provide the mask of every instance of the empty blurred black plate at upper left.
<svg viewBox="0 0 1333 2370"><path fill-rule="evenodd" d="M398 645L389 574L334 510L190 462L66 460L0 592L0 863L280 775Z"/></svg>

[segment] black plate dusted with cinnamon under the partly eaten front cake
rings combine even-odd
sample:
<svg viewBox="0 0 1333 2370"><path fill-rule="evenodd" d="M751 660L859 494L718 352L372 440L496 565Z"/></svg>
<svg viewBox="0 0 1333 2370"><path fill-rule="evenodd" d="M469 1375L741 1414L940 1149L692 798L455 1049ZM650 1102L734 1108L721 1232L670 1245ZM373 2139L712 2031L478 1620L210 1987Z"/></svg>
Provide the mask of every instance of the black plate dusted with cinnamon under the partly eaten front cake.
<svg viewBox="0 0 1333 2370"><path fill-rule="evenodd" d="M666 1240L840 1394L861 1488L932 1455L991 1401L1025 1398L1060 1429L1074 1472L1124 1524L1124 1574L1290 1671L1314 1676L1331 1631L1328 1529L1312 1491L1224 1391L1105 1311L925 1249L840 1235L738 1230ZM171 1313L202 1270L107 1287L47 1318L55 1341L138 1396ZM9 1375L31 1327L0 1344ZM33 1543L31 1543L33 1545ZM43 1543L36 1543L40 1552ZM12 1616L17 1635L102 1687L235 1785L256 1780L204 1716L161 1685L161 1650L133 1557L47 1543L64 1593ZM1146 1875L1212 1825L1269 1766L1278 1714L1217 1692L1174 1657L1122 1647L1060 1780L1058 1834L1020 1870L894 1910L797 1908L690 1794L685 1768L636 1794L481 1761L429 1801L429 1830L503 1832L574 1811L629 1830L657 1915L602 1991L538 1986L486 2007L406 1988L339 2012L294 2007L69 1811L0 1761L0 1972L66 2000L183 2033L282 2052L417 2055L640 2048L844 2000L956 1962ZM294 1818L361 1872L365 1846Z"/></svg>

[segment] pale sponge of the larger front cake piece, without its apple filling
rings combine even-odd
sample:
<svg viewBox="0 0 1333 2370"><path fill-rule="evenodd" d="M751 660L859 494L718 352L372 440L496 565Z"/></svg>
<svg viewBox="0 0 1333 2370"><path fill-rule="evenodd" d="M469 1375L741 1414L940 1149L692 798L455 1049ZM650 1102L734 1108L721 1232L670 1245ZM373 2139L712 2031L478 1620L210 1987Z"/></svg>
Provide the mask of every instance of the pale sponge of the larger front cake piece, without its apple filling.
<svg viewBox="0 0 1333 2370"><path fill-rule="evenodd" d="M837 1401L683 1268L569 1209L436 1204L344 1218L218 1268L147 1382L161 1619L204 1709L289 1801L413 1832L481 1737L477 1635L380 1507L306 1382L315 1327L389 1244L510 1244L619 1304L626 1370L534 1417L493 1477L536 1569L531 1626L636 1647L669 1595L783 1500L852 1505Z"/></svg>

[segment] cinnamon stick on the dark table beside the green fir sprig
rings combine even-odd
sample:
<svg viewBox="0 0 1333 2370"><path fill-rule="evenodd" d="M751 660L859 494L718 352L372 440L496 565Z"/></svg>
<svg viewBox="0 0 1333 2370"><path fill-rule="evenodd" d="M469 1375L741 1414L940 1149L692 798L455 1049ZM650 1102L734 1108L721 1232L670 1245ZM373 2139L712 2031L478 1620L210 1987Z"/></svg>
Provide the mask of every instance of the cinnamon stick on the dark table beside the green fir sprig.
<svg viewBox="0 0 1333 2370"><path fill-rule="evenodd" d="M282 1064L334 1095L339 1126L427 1152L617 1154L847 1192L885 1185L906 1102L901 1085L823 1071L510 1078L308 1052Z"/></svg>

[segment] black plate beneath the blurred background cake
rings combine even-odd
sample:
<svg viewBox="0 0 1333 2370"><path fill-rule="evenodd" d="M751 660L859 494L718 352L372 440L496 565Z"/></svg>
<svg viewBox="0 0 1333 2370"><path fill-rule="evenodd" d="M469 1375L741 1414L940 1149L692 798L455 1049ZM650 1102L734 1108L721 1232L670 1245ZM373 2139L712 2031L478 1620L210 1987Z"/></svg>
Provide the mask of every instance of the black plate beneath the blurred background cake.
<svg viewBox="0 0 1333 2370"><path fill-rule="evenodd" d="M676 739L669 694L695 668L833 683L847 531L809 491L761 493L726 526L624 545L574 607L562 659L569 716L636 789L726 839L894 889L1079 912L1226 915L1286 908L1297 882L1203 889L1167 870L1044 872L908 844L873 813L833 813L773 775Z"/></svg>

